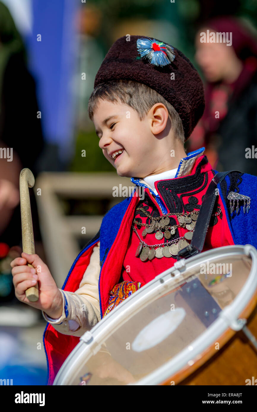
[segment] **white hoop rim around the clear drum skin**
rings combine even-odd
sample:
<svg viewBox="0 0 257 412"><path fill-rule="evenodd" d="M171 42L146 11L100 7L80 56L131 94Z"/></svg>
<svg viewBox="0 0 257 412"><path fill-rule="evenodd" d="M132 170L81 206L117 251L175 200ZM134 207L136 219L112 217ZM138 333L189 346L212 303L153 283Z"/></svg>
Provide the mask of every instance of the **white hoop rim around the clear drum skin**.
<svg viewBox="0 0 257 412"><path fill-rule="evenodd" d="M160 273L158 276L156 276L152 281L146 283L142 288L139 288L136 292L134 292L132 295L127 297L124 302L120 303L118 307L113 309L106 318L102 318L101 321L99 321L90 331L85 332L84 335L80 337L80 342L78 345L75 346L73 351L68 355L66 358L66 361L61 365L61 368L59 372L57 373L57 376L54 379L53 385L67 385L66 380L68 379L68 372L70 374L70 368L67 368L69 363L71 365L73 364L73 359L74 356L76 357L76 363L79 360L80 356L83 356L84 362L85 358L87 358L87 355L92 354L92 346L96 346L94 348L94 352L99 349L99 346L101 347L102 343L108 339L108 336L110 336L113 333L108 332L110 326L112 323L116 323L116 328L118 329L120 327L120 324L122 323L123 319L127 317L127 310L130 309L130 315L133 316L133 309L138 310L137 303L141 299L142 293L144 293L144 299L142 302L144 303L146 299L149 299L149 296L153 295L156 290L158 290L160 284L159 282L162 280L162 285L166 281L170 283L171 279L171 274L173 273L174 276L172 277L172 280L174 279L179 279L179 276L184 272L185 270L190 270L193 269L193 267L197 266L199 261L202 261L202 258L205 256L209 256L210 259L214 258L219 258L219 255L222 256L226 254L231 253L232 255L238 253L241 255L248 255L251 256L252 258L252 267L250 270L250 274L248 276L248 279L246 280L243 288L240 290L236 298L233 300L233 302L228 305L225 309L222 310L221 314L227 309L230 308L229 311L231 313L231 307L233 309L233 314L235 314L234 318L238 318L240 313L244 311L244 309L247 307L247 304L250 302L252 299L253 295L255 294L255 290L257 289L257 276L254 277L252 274L253 269L255 268L257 270L257 250L254 246L252 245L229 245L229 246L222 246L220 248L215 248L211 250L206 250L205 252L199 253L189 259L183 259L180 262L180 265L183 265L184 263L184 270L182 268L176 268L172 267L164 272ZM178 265L179 266L179 265ZM183 278L181 279L183 281ZM253 283L255 284L255 287L253 287ZM245 290L248 290L250 294L245 293ZM242 295L247 295L248 300L245 303L245 299L242 300ZM238 302L239 301L239 302ZM243 306L243 307L242 307ZM123 308L124 310L120 310ZM239 309L238 309L239 308ZM235 310L236 309L236 310ZM229 313L227 311L227 313ZM118 316L117 316L118 312ZM118 323L118 326L117 326ZM149 373L145 377L141 378L137 382L129 385L158 385L161 382L167 381L169 377L172 375L175 375L179 370L182 370L182 368L186 367L186 364L188 361L191 359L194 359L199 353L203 353L205 349L207 349L208 346L213 342L214 339L217 339L218 336L224 335L226 330L229 330L230 326L228 323L226 323L224 316L219 316L213 323L210 325L203 333L201 333L191 344L190 346L195 346L195 348L198 348L197 351L194 349L193 351L189 351L188 347L184 348L181 352L179 352L174 358L172 358L170 361L166 362L165 364L161 365L159 368L154 370L153 372ZM215 333L213 333L215 332ZM210 342L210 336L212 336L212 341ZM223 343L223 345L230 339L230 337ZM198 340L204 341L204 344L199 346ZM88 345L88 346L85 346ZM198 345L198 346L197 346ZM222 346L223 346L222 345ZM203 348L199 350L199 347ZM188 354L191 354L191 356L186 356ZM210 357L212 354L210 355ZM189 358L189 359L188 359ZM207 359L206 359L207 360ZM176 362L175 362L176 361ZM67 370L66 370L67 368ZM173 368L173 369L172 369ZM190 368L190 366L189 366ZM65 371L66 370L66 371ZM167 372L167 370L172 370L172 372ZM189 372L188 375L190 375L191 372ZM160 375L162 374L162 377L160 378ZM183 378L184 379L184 378ZM65 383L62 383L65 382Z"/></svg>

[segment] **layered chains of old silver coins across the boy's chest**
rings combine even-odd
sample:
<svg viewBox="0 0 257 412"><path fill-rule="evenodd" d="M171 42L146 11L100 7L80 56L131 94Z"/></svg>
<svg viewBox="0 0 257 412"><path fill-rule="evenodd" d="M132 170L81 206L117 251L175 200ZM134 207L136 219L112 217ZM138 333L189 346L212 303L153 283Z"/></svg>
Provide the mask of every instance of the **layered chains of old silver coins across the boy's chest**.
<svg viewBox="0 0 257 412"><path fill-rule="evenodd" d="M172 241L167 241L166 243L159 243L156 245L148 245L146 242L144 242L140 238L139 234L137 233L137 229L132 225L132 229L134 230L135 234L137 235L140 241L135 255L136 257L140 257L142 262L145 262L148 259L152 260L155 257L163 258L163 256L165 256L166 258L170 258L171 256L173 257L177 256L179 250L182 250L187 245L189 245L188 240L191 241L193 237L193 232L195 229L196 220L198 218L199 211L193 211L189 214L188 213L167 213L166 215L153 218L149 213L147 213L144 210L144 208L137 208L137 210L142 211L146 216L148 216L151 219L150 225L147 225L146 223L141 223L137 221L136 219L133 220L134 224L145 227L145 229L142 232L143 236L146 236L147 233L152 233L154 231L157 231L155 234L156 239L158 240L162 239L163 235L165 239L170 239L171 235L175 233L175 230L178 227L186 227L186 229L189 231L189 232L186 232L184 236L181 236L177 239L173 239ZM214 213L212 216L217 216L220 213L221 213L221 208L219 208L219 211L217 213ZM179 225L172 225L172 226L169 225L170 223L169 216L171 215L177 216ZM165 230L164 234L163 232L161 232L161 230ZM156 250L154 249L155 247L157 247Z"/></svg>

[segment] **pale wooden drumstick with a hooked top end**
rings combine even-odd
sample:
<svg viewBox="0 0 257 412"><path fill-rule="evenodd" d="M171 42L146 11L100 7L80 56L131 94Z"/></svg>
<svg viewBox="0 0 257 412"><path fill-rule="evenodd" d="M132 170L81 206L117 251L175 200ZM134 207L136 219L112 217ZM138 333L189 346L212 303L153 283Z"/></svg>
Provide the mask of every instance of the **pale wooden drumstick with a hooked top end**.
<svg viewBox="0 0 257 412"><path fill-rule="evenodd" d="M31 170L25 168L20 173L20 199L21 199L21 232L22 250L29 255L35 253L34 234L31 218L31 202L28 188L33 187L35 178ZM28 263L28 266L33 267ZM30 302L38 300L38 283L26 290L26 297Z"/></svg>

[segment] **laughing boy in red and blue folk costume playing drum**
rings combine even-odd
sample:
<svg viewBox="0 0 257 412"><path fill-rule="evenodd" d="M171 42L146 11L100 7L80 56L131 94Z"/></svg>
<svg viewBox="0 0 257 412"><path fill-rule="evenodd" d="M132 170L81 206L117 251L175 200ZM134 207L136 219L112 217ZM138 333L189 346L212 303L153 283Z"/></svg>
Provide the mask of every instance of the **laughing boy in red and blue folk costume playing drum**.
<svg viewBox="0 0 257 412"><path fill-rule="evenodd" d="M62 289L38 255L23 253L13 260L17 298L41 309L48 322L48 384L80 336L174 265L179 250L190 243L203 197L217 173L204 147L187 155L184 151L184 141L203 114L203 84L186 56L169 44L141 36L118 39L96 75L88 110L104 156L144 196L135 191L106 213ZM249 209L250 201L256 204L256 180L234 171L218 185L203 251L257 246L254 211ZM229 204L229 192L249 197L247 213L242 201ZM41 273L25 266L27 262L41 265ZM33 277L40 290L34 303L25 297Z"/></svg>

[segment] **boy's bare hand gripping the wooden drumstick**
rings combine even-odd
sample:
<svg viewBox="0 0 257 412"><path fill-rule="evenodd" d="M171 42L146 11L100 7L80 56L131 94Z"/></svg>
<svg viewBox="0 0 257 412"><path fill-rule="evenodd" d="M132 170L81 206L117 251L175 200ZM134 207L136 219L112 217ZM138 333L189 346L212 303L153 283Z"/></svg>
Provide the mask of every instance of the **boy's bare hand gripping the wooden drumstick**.
<svg viewBox="0 0 257 412"><path fill-rule="evenodd" d="M30 263L34 268L27 266ZM57 288L50 270L38 255L21 253L21 258L11 262L15 296L36 309L44 311L48 316L58 319L62 314L62 293ZM39 297L37 302L30 302L25 291L38 282Z"/></svg>

